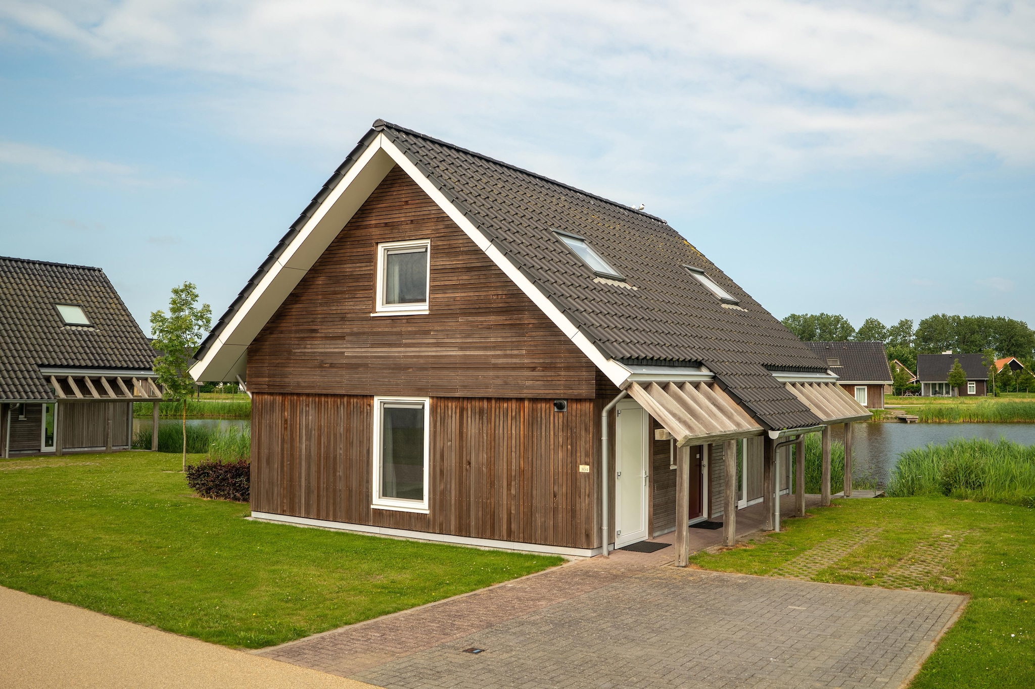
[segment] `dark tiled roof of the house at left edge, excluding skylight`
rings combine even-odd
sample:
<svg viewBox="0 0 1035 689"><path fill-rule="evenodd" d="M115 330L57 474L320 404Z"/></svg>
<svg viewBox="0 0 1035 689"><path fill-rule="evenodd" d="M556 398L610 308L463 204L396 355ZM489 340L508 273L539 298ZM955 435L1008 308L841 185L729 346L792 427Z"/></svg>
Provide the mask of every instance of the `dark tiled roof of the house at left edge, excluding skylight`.
<svg viewBox="0 0 1035 689"><path fill-rule="evenodd" d="M55 304L92 327L65 325ZM150 369L154 352L103 271L0 257L0 399L52 400L38 367Z"/></svg>

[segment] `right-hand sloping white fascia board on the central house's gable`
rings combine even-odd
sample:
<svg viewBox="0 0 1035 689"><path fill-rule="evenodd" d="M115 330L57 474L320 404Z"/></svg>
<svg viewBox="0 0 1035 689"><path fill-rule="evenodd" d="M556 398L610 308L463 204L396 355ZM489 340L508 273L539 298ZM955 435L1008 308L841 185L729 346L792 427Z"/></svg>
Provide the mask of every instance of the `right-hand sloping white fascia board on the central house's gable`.
<svg viewBox="0 0 1035 689"><path fill-rule="evenodd" d="M525 292L525 294L532 300L540 311L546 314L550 318L561 328L561 332L571 340L572 343L593 364L603 372L608 378L611 379L615 385L621 387L625 381L628 379L629 371L622 365L618 364L614 359L605 357L596 346L590 342L582 331L580 331L574 323L568 320L567 316L561 313L560 309L554 306L545 294L539 291L539 288L532 284L525 275L518 270L518 268L510 262L510 260L503 255L503 253L492 243L492 241L485 237L480 229L474 226L467 216L465 216L460 209L453 206L445 195L439 191L439 189L432 184L423 173L421 173L416 165L414 165L406 155L398 150L398 148L391 143L384 134L378 136L378 140L375 144L379 145L383 151L388 153L395 161L395 164L403 168L410 178L417 183L417 186L427 194L432 200L434 200L442 211L449 216L449 219L456 223L464 233L467 234L474 244L485 252L493 262L503 271L503 273L510 278L510 280L518 285L518 287Z"/></svg>

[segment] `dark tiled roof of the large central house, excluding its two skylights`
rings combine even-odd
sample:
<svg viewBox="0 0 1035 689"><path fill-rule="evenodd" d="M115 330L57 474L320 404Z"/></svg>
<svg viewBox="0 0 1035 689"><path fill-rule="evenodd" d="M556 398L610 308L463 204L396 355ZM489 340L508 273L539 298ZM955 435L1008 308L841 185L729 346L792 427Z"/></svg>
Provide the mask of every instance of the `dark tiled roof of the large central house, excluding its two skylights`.
<svg viewBox="0 0 1035 689"><path fill-rule="evenodd" d="M379 131L604 355L701 362L764 425L819 422L766 367L825 371L825 363L664 220L380 120L216 323L199 357ZM554 229L586 238L635 289L594 281ZM739 308L723 306L686 264L704 270Z"/></svg>

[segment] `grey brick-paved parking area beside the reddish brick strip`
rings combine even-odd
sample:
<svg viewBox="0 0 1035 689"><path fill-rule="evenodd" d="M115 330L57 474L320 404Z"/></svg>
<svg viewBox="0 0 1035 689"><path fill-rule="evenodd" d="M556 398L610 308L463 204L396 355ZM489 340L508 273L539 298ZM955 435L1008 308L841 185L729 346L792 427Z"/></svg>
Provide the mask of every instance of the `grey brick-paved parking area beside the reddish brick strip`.
<svg viewBox="0 0 1035 689"><path fill-rule="evenodd" d="M354 678L471 689L898 687L965 603L655 567Z"/></svg>

